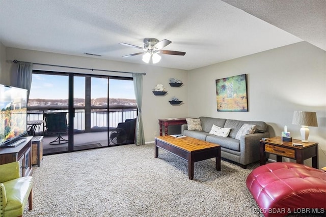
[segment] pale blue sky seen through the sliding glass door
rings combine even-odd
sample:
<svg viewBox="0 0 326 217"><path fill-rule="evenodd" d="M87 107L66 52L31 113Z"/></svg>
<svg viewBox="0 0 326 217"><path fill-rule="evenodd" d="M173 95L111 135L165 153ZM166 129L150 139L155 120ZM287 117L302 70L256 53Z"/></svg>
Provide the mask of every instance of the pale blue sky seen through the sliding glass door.
<svg viewBox="0 0 326 217"><path fill-rule="evenodd" d="M107 79L92 77L91 98L107 97ZM85 77L74 77L74 98L85 98ZM135 99L133 81L110 79L110 98ZM30 99L68 99L67 75L33 74Z"/></svg>

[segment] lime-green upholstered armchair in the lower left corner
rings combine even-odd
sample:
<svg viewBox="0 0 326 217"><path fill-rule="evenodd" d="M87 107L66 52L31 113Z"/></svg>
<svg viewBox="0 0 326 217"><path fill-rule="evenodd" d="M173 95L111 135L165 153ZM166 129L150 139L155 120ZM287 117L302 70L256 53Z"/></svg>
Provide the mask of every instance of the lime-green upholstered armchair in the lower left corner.
<svg viewBox="0 0 326 217"><path fill-rule="evenodd" d="M0 216L22 216L29 200L32 209L32 176L20 177L19 162L0 165Z"/></svg>

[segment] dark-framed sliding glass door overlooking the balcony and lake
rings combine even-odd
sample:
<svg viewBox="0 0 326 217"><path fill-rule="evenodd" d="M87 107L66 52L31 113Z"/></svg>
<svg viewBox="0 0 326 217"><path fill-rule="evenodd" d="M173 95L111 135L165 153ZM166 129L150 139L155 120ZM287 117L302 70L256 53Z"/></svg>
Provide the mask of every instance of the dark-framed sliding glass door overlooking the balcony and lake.
<svg viewBox="0 0 326 217"><path fill-rule="evenodd" d="M34 71L28 112L29 120L44 121L35 132L44 136L44 154L134 143L131 78ZM50 119L59 133L48 129Z"/></svg>

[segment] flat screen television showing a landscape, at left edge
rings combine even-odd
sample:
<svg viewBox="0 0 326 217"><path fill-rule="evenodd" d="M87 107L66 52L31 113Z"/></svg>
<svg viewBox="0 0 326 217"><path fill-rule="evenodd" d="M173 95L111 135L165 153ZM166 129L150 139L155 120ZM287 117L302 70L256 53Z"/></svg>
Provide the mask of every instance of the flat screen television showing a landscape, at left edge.
<svg viewBox="0 0 326 217"><path fill-rule="evenodd" d="M0 84L0 146L27 135L27 90Z"/></svg>

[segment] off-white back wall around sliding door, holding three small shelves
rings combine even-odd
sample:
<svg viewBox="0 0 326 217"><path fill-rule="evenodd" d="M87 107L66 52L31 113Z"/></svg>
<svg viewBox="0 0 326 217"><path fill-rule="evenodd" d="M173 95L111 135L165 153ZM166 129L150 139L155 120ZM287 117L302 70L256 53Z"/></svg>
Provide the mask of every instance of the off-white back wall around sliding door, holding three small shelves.
<svg viewBox="0 0 326 217"><path fill-rule="evenodd" d="M182 81L187 80L187 72L178 69L169 69L162 67L155 67L151 65L140 65L140 64L129 64L119 61L109 61L98 58L80 57L72 55L64 55L57 53L48 53L32 50L24 50L17 48L6 48L6 63L7 69L10 72L14 68L12 60L17 59L19 61L28 61L32 63L51 64L51 65L62 65L70 67L82 67L91 69L102 69L102 70L116 70L125 72L141 72L146 73L143 77L143 126L145 132L145 141L154 141L154 133L159 133L158 119L168 117L184 117L187 116L187 84L184 86L175 88L169 86L169 78L175 77ZM11 61L8 61L11 60ZM131 77L130 74L117 74L107 72L92 72L89 70L76 70L59 67L48 67L33 65L33 69L42 70L55 70L55 71L68 71L77 73L88 73L88 74L100 74L100 75L118 75ZM9 73L8 73L9 74ZM10 76L10 75L7 75ZM152 93L152 89L156 84L163 84L167 89L168 93L164 97L155 97ZM8 84L10 85L10 84ZM184 102L180 106L172 106L169 100L176 96Z"/></svg>

